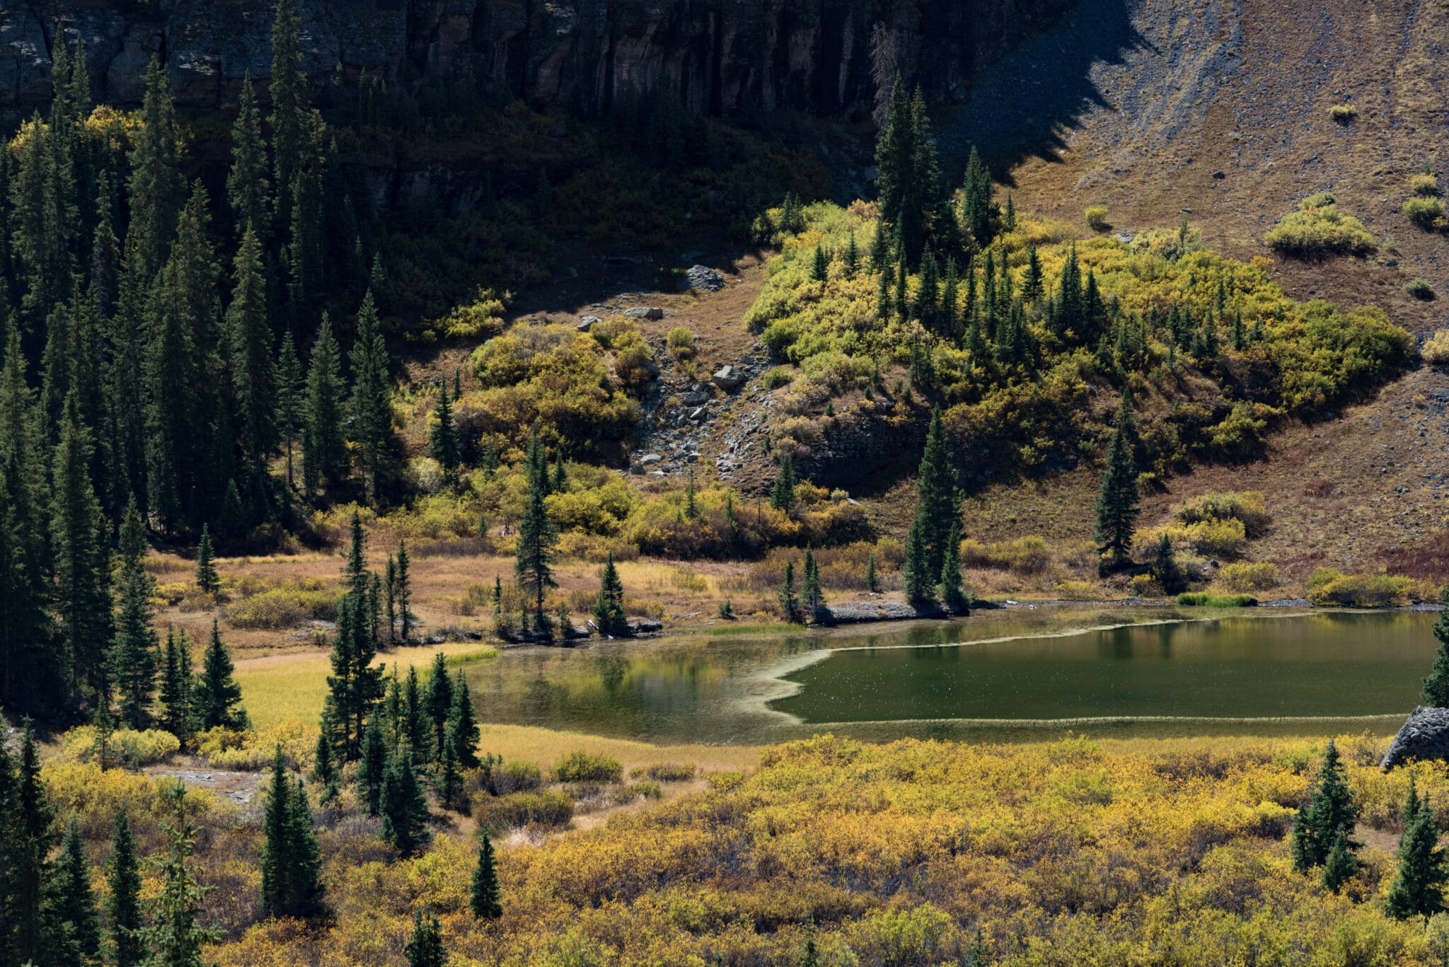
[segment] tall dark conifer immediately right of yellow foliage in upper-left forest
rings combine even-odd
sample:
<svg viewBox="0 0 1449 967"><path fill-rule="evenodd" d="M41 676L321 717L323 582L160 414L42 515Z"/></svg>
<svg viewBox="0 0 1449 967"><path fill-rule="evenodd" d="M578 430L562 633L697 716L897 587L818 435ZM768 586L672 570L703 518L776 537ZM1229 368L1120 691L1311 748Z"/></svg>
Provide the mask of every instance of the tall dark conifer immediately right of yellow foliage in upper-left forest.
<svg viewBox="0 0 1449 967"><path fill-rule="evenodd" d="M146 94L130 152L130 226L128 258L141 278L167 261L175 238L185 183L177 159L175 107L167 70L155 57L146 67Z"/></svg>

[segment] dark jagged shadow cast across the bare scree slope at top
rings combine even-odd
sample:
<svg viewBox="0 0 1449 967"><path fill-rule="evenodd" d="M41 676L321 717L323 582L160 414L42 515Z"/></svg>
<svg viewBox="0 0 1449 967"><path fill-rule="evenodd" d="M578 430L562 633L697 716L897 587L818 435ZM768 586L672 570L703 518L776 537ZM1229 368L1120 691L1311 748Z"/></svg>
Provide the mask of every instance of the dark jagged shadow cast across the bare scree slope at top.
<svg viewBox="0 0 1449 967"><path fill-rule="evenodd" d="M1156 52L1133 26L1129 0L1080 0L1052 28L1023 41L975 78L965 104L936 120L948 184L961 180L972 145L1006 184L1029 157L1058 161L1065 129L1094 107L1111 109L1093 81L1093 65L1120 64L1133 49Z"/></svg>

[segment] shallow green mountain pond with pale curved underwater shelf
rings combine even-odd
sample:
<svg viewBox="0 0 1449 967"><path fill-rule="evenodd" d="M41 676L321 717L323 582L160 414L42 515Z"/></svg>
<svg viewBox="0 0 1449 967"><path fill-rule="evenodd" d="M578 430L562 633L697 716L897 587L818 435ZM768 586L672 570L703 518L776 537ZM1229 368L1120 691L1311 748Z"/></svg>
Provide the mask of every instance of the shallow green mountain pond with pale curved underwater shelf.
<svg viewBox="0 0 1449 967"><path fill-rule="evenodd" d="M484 721L662 744L827 731L881 741L1391 734L1433 660L1433 621L1011 607L868 629L516 648L467 674Z"/></svg>

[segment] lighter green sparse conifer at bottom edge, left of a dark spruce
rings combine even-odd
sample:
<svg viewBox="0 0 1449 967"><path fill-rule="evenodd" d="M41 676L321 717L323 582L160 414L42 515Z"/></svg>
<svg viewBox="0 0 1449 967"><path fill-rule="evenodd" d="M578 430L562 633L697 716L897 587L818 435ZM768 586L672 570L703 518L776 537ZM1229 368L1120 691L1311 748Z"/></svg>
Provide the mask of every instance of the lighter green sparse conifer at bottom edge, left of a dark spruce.
<svg viewBox="0 0 1449 967"><path fill-rule="evenodd" d="M161 893L151 905L151 922L141 931L148 951L148 967L203 967L201 945L222 938L220 931L200 926L201 900L210 893L196 881L191 851L199 829L187 821L185 789L174 786L171 799L174 819L162 823L170 839L167 857L156 861L161 871Z"/></svg>

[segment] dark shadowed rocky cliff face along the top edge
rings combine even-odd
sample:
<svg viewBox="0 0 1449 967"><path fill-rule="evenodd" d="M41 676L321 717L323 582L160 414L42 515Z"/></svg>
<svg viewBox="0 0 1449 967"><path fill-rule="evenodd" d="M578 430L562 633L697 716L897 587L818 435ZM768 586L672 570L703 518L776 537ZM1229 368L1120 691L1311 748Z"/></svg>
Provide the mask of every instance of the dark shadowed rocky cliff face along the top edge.
<svg viewBox="0 0 1449 967"><path fill-rule="evenodd" d="M1072 0L297 0L304 70L390 84L458 72L585 112L669 84L693 110L869 113L871 33L936 99ZM0 10L0 110L49 99L51 49L83 39L97 99L139 101L152 55L187 107L235 104L271 70L272 0L30 0Z"/></svg>

